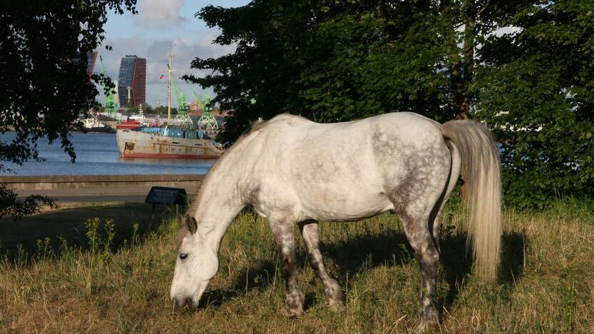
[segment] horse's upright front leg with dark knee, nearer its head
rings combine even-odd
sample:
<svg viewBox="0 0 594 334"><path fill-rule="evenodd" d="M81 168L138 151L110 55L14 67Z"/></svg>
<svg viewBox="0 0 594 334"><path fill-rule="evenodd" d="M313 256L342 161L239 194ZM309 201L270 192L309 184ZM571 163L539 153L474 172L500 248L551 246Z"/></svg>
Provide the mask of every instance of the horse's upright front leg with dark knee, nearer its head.
<svg viewBox="0 0 594 334"><path fill-rule="evenodd" d="M268 223L281 255L281 268L286 282L286 308L285 315L294 318L303 313L303 300L305 295L297 283L297 265L295 260L295 236L293 235L294 222L289 219L271 219Z"/></svg>

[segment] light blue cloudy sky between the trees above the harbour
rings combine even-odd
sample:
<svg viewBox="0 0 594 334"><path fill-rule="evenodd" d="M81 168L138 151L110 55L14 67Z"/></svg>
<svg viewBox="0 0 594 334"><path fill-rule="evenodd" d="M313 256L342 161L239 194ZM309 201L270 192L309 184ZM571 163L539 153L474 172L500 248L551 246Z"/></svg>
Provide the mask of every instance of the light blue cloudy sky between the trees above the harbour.
<svg viewBox="0 0 594 334"><path fill-rule="evenodd" d="M138 0L136 9L139 14L108 14L104 26L105 40L97 49L103 56L106 75L112 80L119 76L121 57L134 54L146 59L146 103L151 106L166 105L167 81L159 76L167 69L167 53L173 53L173 69L176 76L205 73L190 69L190 62L195 57L211 58L232 53L234 46L212 44L218 36L218 29L209 29L204 21L194 17L204 6L213 4L222 7L245 6L249 0ZM105 46L111 46L107 51ZM100 72L99 57L94 71ZM191 89L178 79L178 86L188 96L188 101L195 99ZM203 98L205 93L200 86L196 91ZM103 90L99 90L102 94ZM103 103L101 95L98 100ZM173 106L177 106L173 96Z"/></svg>

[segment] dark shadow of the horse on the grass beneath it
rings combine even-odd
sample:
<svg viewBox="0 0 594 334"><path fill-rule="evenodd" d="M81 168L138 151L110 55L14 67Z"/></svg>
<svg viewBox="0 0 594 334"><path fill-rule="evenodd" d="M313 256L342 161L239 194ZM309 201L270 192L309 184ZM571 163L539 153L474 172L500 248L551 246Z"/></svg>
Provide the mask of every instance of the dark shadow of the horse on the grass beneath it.
<svg viewBox="0 0 594 334"><path fill-rule="evenodd" d="M513 286L523 273L523 258L527 244L523 233L505 233L502 237L501 270L498 284ZM375 235L358 236L344 242L323 243L322 253L336 264L331 275L338 278L343 288L350 289L353 277L363 270L370 270L380 265L407 265L415 258L402 231L388 230ZM466 234L445 231L441 239L441 276L448 283L445 294L438 293L438 304L449 308L457 300L464 280L470 275L473 259L466 251ZM298 268L308 265L305 251L297 255ZM207 290L200 306L218 306L228 300L246 295L248 290L266 290L276 280L284 287L281 269L277 262L263 261L257 266L244 268L229 289ZM316 277L316 280L318 278ZM321 282L318 283L321 284ZM315 295L306 293L304 309L316 303Z"/></svg>

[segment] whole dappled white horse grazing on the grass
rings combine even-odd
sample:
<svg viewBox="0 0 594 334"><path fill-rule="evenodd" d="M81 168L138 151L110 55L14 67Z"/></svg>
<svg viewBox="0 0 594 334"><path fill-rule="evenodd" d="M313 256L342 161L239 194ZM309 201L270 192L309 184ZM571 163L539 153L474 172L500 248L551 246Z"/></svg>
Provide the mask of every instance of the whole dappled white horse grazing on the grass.
<svg viewBox="0 0 594 334"><path fill-rule="evenodd" d="M341 286L324 268L318 221L358 221L391 211L403 221L421 267L421 328L438 323L438 217L460 171L469 202L475 270L493 278L501 238L498 148L480 123L444 124L416 113L386 113L321 124L282 114L258 123L214 164L183 218L171 299L198 306L218 270L218 250L247 205L267 218L286 280L288 317L303 313L296 276L297 225L331 308L343 308Z"/></svg>

